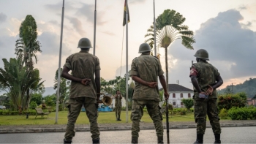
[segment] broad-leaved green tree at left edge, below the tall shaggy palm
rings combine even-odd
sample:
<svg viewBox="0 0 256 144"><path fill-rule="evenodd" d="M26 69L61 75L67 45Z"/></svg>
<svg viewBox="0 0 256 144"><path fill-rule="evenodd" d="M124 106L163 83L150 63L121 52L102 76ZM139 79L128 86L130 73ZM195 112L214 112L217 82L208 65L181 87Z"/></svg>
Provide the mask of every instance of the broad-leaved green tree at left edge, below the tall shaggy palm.
<svg viewBox="0 0 256 144"><path fill-rule="evenodd" d="M39 83L39 70L27 70L20 58L3 58L4 69L0 68L0 83L8 92L16 110L20 112L28 108L30 97L26 94L29 88L36 88Z"/></svg>

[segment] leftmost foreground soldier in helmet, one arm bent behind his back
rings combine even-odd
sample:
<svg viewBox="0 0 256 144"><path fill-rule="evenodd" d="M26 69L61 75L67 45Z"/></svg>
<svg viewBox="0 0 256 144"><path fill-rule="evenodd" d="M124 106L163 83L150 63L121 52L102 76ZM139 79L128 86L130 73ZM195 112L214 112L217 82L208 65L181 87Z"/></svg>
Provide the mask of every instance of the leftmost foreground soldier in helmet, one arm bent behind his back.
<svg viewBox="0 0 256 144"><path fill-rule="evenodd" d="M75 136L75 121L80 114L81 107L86 109L90 121L91 138L93 143L99 143L98 104L100 93L99 58L89 53L91 42L82 38L78 42L79 53L74 53L66 59L62 77L72 80L69 94L69 114L64 143L72 143ZM69 71L72 75L69 75ZM95 75L95 78L94 78ZM98 93L98 94L97 94Z"/></svg>

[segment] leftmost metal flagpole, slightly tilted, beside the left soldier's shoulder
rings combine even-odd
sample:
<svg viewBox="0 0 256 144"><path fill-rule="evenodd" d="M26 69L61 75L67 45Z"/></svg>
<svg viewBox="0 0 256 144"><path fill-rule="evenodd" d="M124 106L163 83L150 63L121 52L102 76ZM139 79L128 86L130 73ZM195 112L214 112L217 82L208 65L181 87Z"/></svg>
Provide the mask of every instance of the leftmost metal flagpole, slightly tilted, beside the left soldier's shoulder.
<svg viewBox="0 0 256 144"><path fill-rule="evenodd" d="M57 86L57 97L56 97L56 118L55 124L58 124L58 112L59 112L59 85L61 80L61 49L62 49L62 35L63 35L63 20L64 20L64 0L62 4L62 15L61 15L61 42L59 47L59 69L58 69L58 86Z"/></svg>

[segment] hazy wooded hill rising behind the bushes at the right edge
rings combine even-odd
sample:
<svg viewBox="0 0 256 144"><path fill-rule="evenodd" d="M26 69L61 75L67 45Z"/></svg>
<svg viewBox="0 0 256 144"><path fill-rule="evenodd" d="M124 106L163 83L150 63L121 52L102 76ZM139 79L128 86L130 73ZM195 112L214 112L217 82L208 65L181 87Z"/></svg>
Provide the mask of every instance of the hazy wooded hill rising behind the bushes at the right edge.
<svg viewBox="0 0 256 144"><path fill-rule="evenodd" d="M218 93L224 94L226 91L232 91L232 89L233 94L245 92L248 98L252 98L256 95L256 78L249 78L249 80L245 80L244 83L240 83L236 86L227 86L226 88L218 90Z"/></svg>

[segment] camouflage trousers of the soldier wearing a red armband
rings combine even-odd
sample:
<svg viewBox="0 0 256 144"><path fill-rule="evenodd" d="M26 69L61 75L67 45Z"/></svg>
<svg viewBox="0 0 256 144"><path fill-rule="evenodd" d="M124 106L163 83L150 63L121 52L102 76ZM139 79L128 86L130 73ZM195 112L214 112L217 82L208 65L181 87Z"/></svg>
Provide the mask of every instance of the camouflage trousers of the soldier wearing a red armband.
<svg viewBox="0 0 256 144"><path fill-rule="evenodd" d="M214 134L220 134L222 129L219 124L217 98L200 99L195 98L195 122L197 123L197 134L204 134L206 131L206 115L211 124Z"/></svg>

